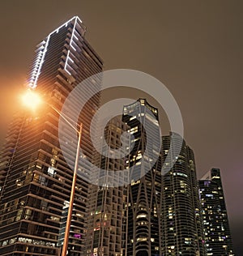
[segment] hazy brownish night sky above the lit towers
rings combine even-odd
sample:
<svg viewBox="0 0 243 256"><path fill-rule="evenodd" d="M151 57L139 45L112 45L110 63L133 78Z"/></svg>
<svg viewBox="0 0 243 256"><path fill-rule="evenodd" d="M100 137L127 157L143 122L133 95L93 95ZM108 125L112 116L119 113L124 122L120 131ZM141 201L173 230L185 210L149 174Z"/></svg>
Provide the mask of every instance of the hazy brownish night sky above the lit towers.
<svg viewBox="0 0 243 256"><path fill-rule="evenodd" d="M177 100L198 177L220 168L236 254L243 255L243 2L1 1L1 141L27 77L37 43L79 15L104 70L141 70ZM111 96L144 96L134 90ZM157 103L148 96L152 105ZM163 134L169 127L161 112Z"/></svg>

